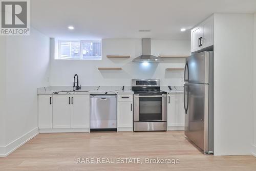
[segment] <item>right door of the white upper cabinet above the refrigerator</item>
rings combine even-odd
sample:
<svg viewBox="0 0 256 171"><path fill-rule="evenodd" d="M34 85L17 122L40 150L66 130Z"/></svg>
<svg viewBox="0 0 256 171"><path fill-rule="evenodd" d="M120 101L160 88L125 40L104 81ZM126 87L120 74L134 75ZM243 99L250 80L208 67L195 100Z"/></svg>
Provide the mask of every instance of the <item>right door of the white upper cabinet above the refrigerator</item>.
<svg viewBox="0 0 256 171"><path fill-rule="evenodd" d="M202 47L207 48L214 45L214 17L211 16L206 19L202 24Z"/></svg>

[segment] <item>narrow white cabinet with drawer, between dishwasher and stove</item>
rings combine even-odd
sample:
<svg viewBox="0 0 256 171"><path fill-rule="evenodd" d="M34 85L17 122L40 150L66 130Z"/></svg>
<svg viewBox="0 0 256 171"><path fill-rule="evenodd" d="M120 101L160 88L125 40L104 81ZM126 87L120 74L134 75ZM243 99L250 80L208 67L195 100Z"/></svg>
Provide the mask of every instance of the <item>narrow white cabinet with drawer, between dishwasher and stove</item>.
<svg viewBox="0 0 256 171"><path fill-rule="evenodd" d="M118 95L118 131L133 131L133 95Z"/></svg>

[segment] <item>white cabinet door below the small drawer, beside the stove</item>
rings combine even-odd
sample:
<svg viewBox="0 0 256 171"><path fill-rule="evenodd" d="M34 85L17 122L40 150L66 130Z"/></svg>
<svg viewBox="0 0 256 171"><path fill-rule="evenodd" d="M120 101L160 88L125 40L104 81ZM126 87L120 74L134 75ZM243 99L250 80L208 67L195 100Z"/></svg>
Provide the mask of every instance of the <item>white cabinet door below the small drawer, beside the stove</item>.
<svg viewBox="0 0 256 171"><path fill-rule="evenodd" d="M118 101L118 127L133 127L132 101Z"/></svg>

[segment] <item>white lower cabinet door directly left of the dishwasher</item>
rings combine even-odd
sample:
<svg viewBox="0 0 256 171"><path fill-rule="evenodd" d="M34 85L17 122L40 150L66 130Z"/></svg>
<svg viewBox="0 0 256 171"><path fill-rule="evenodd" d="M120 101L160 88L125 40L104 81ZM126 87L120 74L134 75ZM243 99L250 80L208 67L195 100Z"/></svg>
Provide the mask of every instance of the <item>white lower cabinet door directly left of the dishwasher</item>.
<svg viewBox="0 0 256 171"><path fill-rule="evenodd" d="M90 95L71 95L71 127L89 127Z"/></svg>

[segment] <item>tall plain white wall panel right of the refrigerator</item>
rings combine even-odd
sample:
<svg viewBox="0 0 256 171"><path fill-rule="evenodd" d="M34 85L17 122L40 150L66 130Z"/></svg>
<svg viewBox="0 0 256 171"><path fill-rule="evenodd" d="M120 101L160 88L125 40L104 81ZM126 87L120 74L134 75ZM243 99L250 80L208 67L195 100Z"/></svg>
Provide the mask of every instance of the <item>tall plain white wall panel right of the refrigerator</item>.
<svg viewBox="0 0 256 171"><path fill-rule="evenodd" d="M215 14L215 155L244 155L251 152L252 35L252 14Z"/></svg>

